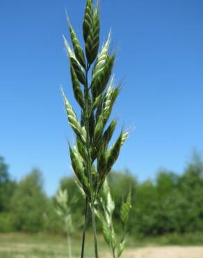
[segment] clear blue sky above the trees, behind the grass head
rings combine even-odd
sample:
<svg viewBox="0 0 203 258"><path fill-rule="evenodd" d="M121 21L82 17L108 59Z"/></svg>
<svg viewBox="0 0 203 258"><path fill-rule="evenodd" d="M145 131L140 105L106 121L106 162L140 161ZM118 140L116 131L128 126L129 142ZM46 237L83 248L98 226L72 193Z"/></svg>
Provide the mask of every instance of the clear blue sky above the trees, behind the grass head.
<svg viewBox="0 0 203 258"><path fill-rule="evenodd" d="M60 96L73 107L62 34L65 8L82 41L85 0L1 1L0 155L19 180L33 167L54 194L71 173L72 131ZM115 76L124 86L114 109L134 125L115 169L138 179L166 167L181 173L193 148L203 152L203 1L101 0L101 41L112 28Z"/></svg>

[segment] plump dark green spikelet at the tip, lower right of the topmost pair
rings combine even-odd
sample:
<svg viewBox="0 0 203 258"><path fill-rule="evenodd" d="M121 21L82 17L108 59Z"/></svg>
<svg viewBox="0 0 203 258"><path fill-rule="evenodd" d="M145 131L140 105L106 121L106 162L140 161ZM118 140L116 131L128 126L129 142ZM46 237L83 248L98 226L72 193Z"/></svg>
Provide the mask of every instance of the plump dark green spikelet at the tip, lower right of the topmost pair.
<svg viewBox="0 0 203 258"><path fill-rule="evenodd" d="M99 32L99 9L97 6L93 13L91 28L88 31L88 38L86 39L86 56L89 64L92 64L95 61L98 54Z"/></svg>

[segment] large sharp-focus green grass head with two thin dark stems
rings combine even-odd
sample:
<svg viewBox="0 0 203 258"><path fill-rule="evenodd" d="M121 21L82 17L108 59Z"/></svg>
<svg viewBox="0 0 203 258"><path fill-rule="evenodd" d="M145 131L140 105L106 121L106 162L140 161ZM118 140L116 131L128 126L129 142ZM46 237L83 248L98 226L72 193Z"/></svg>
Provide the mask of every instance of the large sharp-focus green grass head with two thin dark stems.
<svg viewBox="0 0 203 258"><path fill-rule="evenodd" d="M111 32L108 34L106 43L99 51L100 19L98 3L94 5L92 0L86 1L83 17L84 51L68 18L67 21L72 47L70 47L65 37L64 42L70 61L74 98L81 109L79 116L74 112L63 89L62 94L67 119L76 135L76 144L74 146L69 144L72 168L86 195L81 258L84 256L88 209L90 209L92 216L95 258L97 258L95 199L99 195L106 176L111 172L111 168L117 160L129 132L121 130L115 143L109 148L108 145L113 136L117 119L113 119L110 123L108 123L108 120L115 100L120 93L120 85L115 85L112 76L116 53L109 50Z"/></svg>

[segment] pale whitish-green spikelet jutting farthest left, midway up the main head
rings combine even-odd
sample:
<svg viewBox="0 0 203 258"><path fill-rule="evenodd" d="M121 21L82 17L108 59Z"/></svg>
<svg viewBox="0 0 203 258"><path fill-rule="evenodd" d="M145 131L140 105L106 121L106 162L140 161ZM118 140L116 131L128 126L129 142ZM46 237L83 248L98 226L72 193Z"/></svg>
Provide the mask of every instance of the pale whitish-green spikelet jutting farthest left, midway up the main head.
<svg viewBox="0 0 203 258"><path fill-rule="evenodd" d="M66 113L67 113L67 119L70 123L70 126L76 133L76 135L81 139L81 142L83 144L86 143L86 130L85 128L81 127L81 123L79 123L76 114L74 110L72 109L72 106L70 105L69 101L67 100L65 93L63 92L63 89L61 89L62 95L63 95L63 100L65 103L65 108L66 108Z"/></svg>

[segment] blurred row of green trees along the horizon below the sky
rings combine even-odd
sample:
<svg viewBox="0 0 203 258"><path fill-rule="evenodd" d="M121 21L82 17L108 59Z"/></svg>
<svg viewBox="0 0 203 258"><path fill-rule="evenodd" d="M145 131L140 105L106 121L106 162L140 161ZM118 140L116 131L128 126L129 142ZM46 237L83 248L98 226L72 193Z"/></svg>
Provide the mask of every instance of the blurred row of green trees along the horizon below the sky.
<svg viewBox="0 0 203 258"><path fill-rule="evenodd" d="M67 189L72 206L73 225L80 230L84 199L74 177L61 179L58 189ZM130 172L112 172L108 183L115 201L115 227L131 185L132 210L129 232L140 236L203 232L203 162L194 155L184 172L162 169L154 180L140 182ZM76 201L75 201L76 200ZM81 222L81 223L80 223ZM33 169L17 182L0 158L0 232L51 232L63 234L63 222L56 214L56 195L47 197L42 172Z"/></svg>

